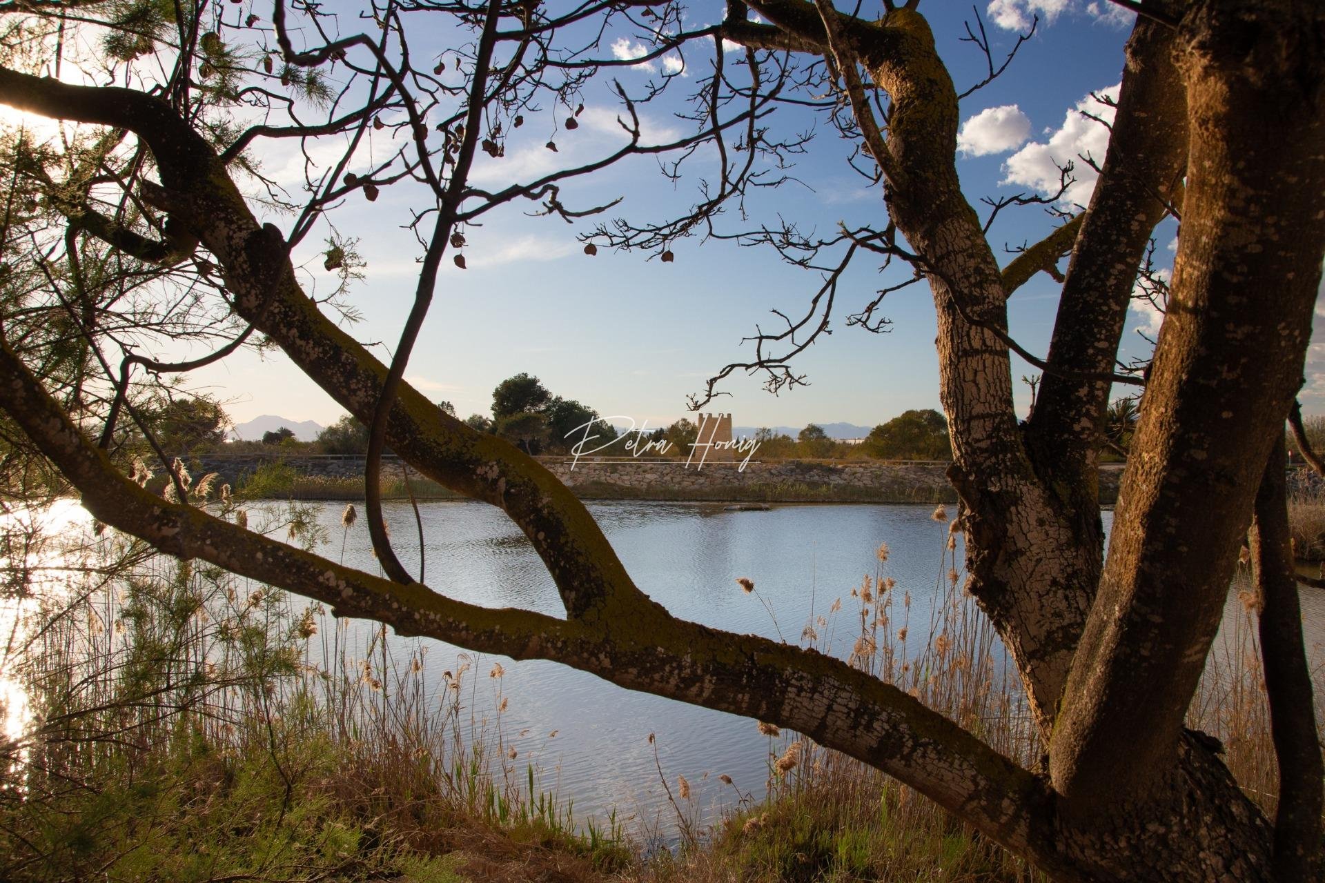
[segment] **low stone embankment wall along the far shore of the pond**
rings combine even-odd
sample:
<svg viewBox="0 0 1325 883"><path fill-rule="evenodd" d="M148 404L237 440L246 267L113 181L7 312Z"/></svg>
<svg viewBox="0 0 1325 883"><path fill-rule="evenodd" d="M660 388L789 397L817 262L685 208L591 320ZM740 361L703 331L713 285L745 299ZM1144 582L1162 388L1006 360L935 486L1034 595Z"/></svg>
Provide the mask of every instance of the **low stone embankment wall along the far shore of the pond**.
<svg viewBox="0 0 1325 883"><path fill-rule="evenodd" d="M193 458L201 471L216 471L238 486L258 467L285 462L302 475L354 479L363 475L362 457L281 457L278 454L217 454ZM386 458L384 475L398 475L395 458ZM542 462L586 499L758 500L938 503L957 496L945 475L946 463L876 461L706 462L688 469L682 461L546 457ZM195 473L200 474L200 473ZM1100 470L1100 499L1112 503L1121 466Z"/></svg>

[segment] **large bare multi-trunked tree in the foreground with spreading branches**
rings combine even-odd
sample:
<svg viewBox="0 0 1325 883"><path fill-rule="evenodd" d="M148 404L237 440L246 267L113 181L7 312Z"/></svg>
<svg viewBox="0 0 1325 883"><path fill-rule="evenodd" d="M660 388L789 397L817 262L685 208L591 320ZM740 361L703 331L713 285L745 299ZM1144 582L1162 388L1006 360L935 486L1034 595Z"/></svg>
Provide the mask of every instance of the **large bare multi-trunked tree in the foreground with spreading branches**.
<svg viewBox="0 0 1325 883"><path fill-rule="evenodd" d="M714 53L713 75L696 90L693 132L670 144L643 144L635 98L645 95L620 89L628 139L621 151L489 192L468 184L476 151L500 156L523 114L538 107L574 119L575 95L596 69L639 61L610 57L594 36L586 45L558 42L578 33L570 25L595 19L590 32L611 33L632 26L631 16L643 7L590 4L560 20L538 4L456 7L458 26L428 30L458 34L445 56L452 69L460 60L464 87L457 89L408 68L403 24L405 16L448 15L450 7L388 5L360 20L378 28L372 36L323 42L314 34L329 30L317 26L325 13L305 5L297 15L309 26L298 33L313 42L301 50L277 3L272 26L280 52L266 54L229 49L227 40L242 41L244 29L221 19L216 26L224 37L208 30L171 44L175 34L197 36L203 7L152 7L152 16L132 19L119 5L82 4L80 19L99 16L113 37L107 65L130 68L144 56L151 62L151 75L121 70L106 82L159 85L155 91L70 85L24 73L21 60L5 57L5 103L106 127L70 142L77 151L12 147L13 189L41 192L45 201L30 210L19 203L4 241L7 261L20 252L34 267L61 261L61 274L32 290L45 297L46 314L87 342L114 346L102 324L107 310L123 311L134 327L159 324L150 311L130 312L134 304L118 295L95 301L94 287L65 289L83 249L114 252L151 270L166 290L183 277L196 297L162 302L196 307L203 315L189 314L189 327L229 334L227 347L242 346L252 330L282 347L370 428L367 522L390 579L155 498L125 478L103 451L123 434L118 406L132 404L132 391L87 347L82 364L117 393L110 404L68 395L69 375L48 367L68 348L69 335L50 331L29 340L5 327L0 405L97 518L162 551L285 586L401 634L556 659L631 688L799 729L888 772L1055 879L1313 879L1321 757L1281 478L1283 424L1301 384L1325 252L1318 204L1325 192L1325 7L1291 0L1125 4L1142 15L1128 46L1108 152L1102 163L1090 158L1100 180L1088 210L1000 267L986 229L992 218L980 220L957 175L959 97L918 5L885 0L876 20L873 11L856 17L827 0L745 0L731 4L719 24L686 30L676 5L653 4L648 9L662 25L645 28L655 41L645 61L686 44ZM58 4L26 8L36 30L54 34L66 24ZM723 61L729 44L745 46L743 65ZM49 44L21 45L45 50ZM268 68L273 57L280 70ZM346 105L326 105L315 123L301 122L302 114L282 116L288 102L302 109L307 98L326 98L329 71L354 79L354 89L342 93ZM245 78L265 86L244 90ZM853 159L881 185L884 222L829 240L808 240L794 224L735 233L716 226L723 217L743 217L723 216L723 209L745 207L751 185L771 183L762 176L778 173L779 162L806 148L803 138L778 140L771 131L768 113L784 99L820 107L852 139ZM278 119L237 132L221 111L242 101ZM443 120L443 131L429 131L425 118ZM347 148L334 175L309 181L310 196L289 230L258 224L236 184L250 144L346 135L352 146L379 123L404 135L396 152L351 177L343 171L354 147ZM729 144L737 127L741 136ZM709 393L738 367L766 372L775 391L800 383L788 359L827 330L831 295L851 256L869 252L913 265L938 316L939 393L951 434L949 475L961 498L967 589L1015 659L1040 728L1044 769L1020 768L840 661L672 618L635 586L584 507L546 470L403 381L437 265L448 248L464 248L458 228L473 233L484 213L515 199L539 200L547 213L574 220L600 207L568 208L562 181L623 156L670 148L693 155L705 143L716 148L719 168L692 212L604 226L587 245L643 250L668 262L677 241L716 233L770 245L827 274L806 319L788 320L786 332L761 334L755 361L729 365ZM399 346L391 364L382 364L305 294L289 249L343 200L374 200L382 187L401 181L421 181L428 193L415 216L425 254ZM1016 203L995 201L992 210ZM1143 371L1118 372L1136 271L1167 212L1181 213L1182 234L1154 359ZM68 256L61 252L66 234ZM833 249L837 259L815 262ZM1008 334L1007 301L1036 273L1059 273L1068 253L1041 359ZM344 269L347 254L341 245L329 249L329 271ZM464 266L462 253L453 259ZM215 279L217 267L224 286ZM70 297L57 297L66 291ZM878 304L853 318L881 330ZM802 328L807 334L798 334ZM791 349L776 349L779 342ZM1026 425L1012 406L1014 352L1043 372ZM1105 559L1096 467L1114 384L1143 387L1145 406ZM515 401L502 413L494 408L494 416L514 414ZM98 441L80 429L94 424L102 426ZM477 608L412 584L391 552L375 491L388 441L420 473L500 506L547 565L566 617ZM1210 745L1182 728L1252 516L1283 782L1272 822Z"/></svg>

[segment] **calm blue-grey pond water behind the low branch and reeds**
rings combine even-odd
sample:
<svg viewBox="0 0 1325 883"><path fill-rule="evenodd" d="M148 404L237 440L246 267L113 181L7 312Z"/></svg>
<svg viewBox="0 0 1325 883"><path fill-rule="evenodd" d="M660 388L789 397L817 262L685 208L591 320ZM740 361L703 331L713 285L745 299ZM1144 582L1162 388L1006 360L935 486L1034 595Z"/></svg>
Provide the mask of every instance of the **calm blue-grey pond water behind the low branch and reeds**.
<svg viewBox="0 0 1325 883"><path fill-rule="evenodd" d="M343 536L343 504L319 507L330 532L323 553L341 553L363 569L376 571L367 528L360 519ZM696 503L591 503L636 584L674 616L731 631L757 633L798 642L802 629L827 614L835 598L847 598L863 576L897 580L894 626L904 625L901 598L910 594L910 627L921 639L930 618L930 601L946 579L946 523L935 523L931 506L783 506L767 512L727 512ZM522 606L560 616L555 586L523 535L498 510L481 503L427 503L421 507L427 536L427 581L457 598L488 606ZM1105 512L1105 527L1112 522ZM407 503L387 504L396 553L417 572L417 540ZM888 543L890 555L880 565L876 549ZM958 551L959 560L959 551ZM759 596L741 592L737 577L755 581ZM1305 590L1304 617L1317 696L1325 687L1325 593ZM844 609L856 605L844 601ZM844 610L844 612L845 612ZM1226 631L1244 624L1236 592L1226 610ZM352 625L351 645L362 642L367 626ZM1244 625L1242 627L1246 627ZM849 651L856 624L836 617L836 635L820 630L832 651ZM829 629L831 631L831 629ZM440 671L457 667L456 647L437 641L428 646L425 676L441 687ZM394 657L408 658L416 639L390 639ZM700 785L701 806L713 808L735 796L717 782L731 776L742 792L765 793L770 744L755 721L636 694L592 675L542 661L514 662L505 657L476 657L465 703L477 720L494 720L497 680L486 673L500 662L500 682L510 704L502 715L507 744L514 744L523 770L533 760L543 770L543 786L574 798L576 817L619 817L664 831L669 815L649 733L656 733L664 774L673 784L685 776ZM555 735L553 735L555 731Z"/></svg>

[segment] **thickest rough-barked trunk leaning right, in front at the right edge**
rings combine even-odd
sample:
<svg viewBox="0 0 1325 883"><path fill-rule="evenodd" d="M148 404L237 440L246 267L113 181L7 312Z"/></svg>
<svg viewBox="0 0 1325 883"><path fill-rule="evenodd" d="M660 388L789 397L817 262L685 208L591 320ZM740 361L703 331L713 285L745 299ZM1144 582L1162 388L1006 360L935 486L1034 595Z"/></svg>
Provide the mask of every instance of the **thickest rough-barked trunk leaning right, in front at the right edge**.
<svg viewBox="0 0 1325 883"><path fill-rule="evenodd" d="M1200 3L1179 37L1191 154L1169 315L1049 749L1083 817L1159 788L1173 763L1325 250L1325 9Z"/></svg>

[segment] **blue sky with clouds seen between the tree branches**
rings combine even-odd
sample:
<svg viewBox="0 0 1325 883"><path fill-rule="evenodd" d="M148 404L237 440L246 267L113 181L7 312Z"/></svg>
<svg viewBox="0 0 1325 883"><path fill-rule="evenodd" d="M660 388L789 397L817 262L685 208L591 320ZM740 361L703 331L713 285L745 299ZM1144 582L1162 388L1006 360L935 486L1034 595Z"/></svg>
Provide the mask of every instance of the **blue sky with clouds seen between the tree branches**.
<svg viewBox="0 0 1325 883"><path fill-rule="evenodd" d="M929 0L921 9L931 21L958 89L978 81L984 58L959 41L963 21L973 20L971 8ZM1129 16L1108 4L1075 0L995 0L982 5L980 12L996 54L1011 48L1015 28L1024 26L1030 15L1039 13L1041 21L1008 71L962 103L962 119L969 124L963 130L959 173L969 197L975 201L1047 185L1045 176L1053 175L1052 164L1047 165L1049 156L1072 160L1090 144L1102 160L1102 130L1075 109L1092 90L1118 83ZM690 7L693 24L721 15L717 3ZM612 37L621 38L619 52L633 52L639 36ZM702 79L710 64L712 49L686 53L694 82ZM633 89L656 78L657 69L623 68L615 74ZM678 82L673 89L677 101L672 105L645 109L645 138L651 132L662 139L685 131L686 123L669 113L684 106L680 93L688 85ZM582 162L620 144L624 135L615 130L619 107L606 87L587 93L586 105L580 128L556 135L556 155L542 147L545 132L531 123L525 127L527 143L522 147L517 140L507 142L506 158L480 165L478 180L490 185L518 180L535 175L549 162ZM780 109L775 119L783 131L814 124L810 114L795 109ZM798 181L755 195L745 226L775 222L779 216L823 234L839 221L878 228L886 224L880 188L868 187L847 167L843 142L823 120L816 131L810 152L796 158L790 172ZM292 148L278 143L260 148L265 152L258 155L269 173L293 183L302 159ZM1080 162L1077 165L1085 171ZM712 175L713 168L713 155L700 152L686 176L673 184L659 173L655 160L633 159L567 187L563 197L572 205L588 205L620 196L621 204L608 217L661 221L694 200L700 179ZM1088 181L1083 181L1073 195L1084 200L1088 191ZM375 349L383 357L409 308L413 261L420 253L401 225L411 208L424 204L421 188L396 185L386 188L376 203L359 199L333 214L342 234L360 238L359 249L367 259L367 278L351 294L363 315L352 332L360 340L382 342ZM445 262L407 371L421 392L450 400L461 416L486 413L493 387L523 371L541 377L554 393L579 398L603 414L631 416L651 425L669 422L685 414L686 395L698 392L709 375L727 361L749 357L750 344L742 347L739 342L757 323L774 327L776 319L770 310L798 315L820 285L819 274L787 266L771 250L731 242L701 246L698 240L685 240L674 246L673 263L608 249L587 257L575 236L590 230L592 221L571 226L559 218L527 217L530 208L511 204L466 233L469 269ZM282 222L280 217L270 220ZM996 246L1034 242L1052 222L1039 208L1010 210L1000 217L992 240ZM727 229L741 228L739 218L729 214ZM310 236L295 257L305 263L305 282L326 290L331 274L321 267L321 236ZM1159 254L1171 258L1165 245L1174 230L1165 228L1157 236ZM857 257L839 289L833 334L795 364L811 385L774 397L761 389L759 380L737 375L722 387L731 396L708 409L733 412L739 425L799 426L810 421L874 425L909 408L937 408L934 315L928 289L914 286L889 295L881 308L893 322L889 334L848 328L844 320L876 289L906 275L905 269L881 275L876 262ZM1048 348L1056 297L1052 279L1041 274L1012 298L1012 332L1032 352ZM1145 349L1133 330L1147 322L1142 314L1130 318L1125 355ZM1022 373L1034 372L1014 365L1014 375ZM329 424L343 413L280 353L231 357L196 373L191 385L228 400L236 422L274 413ZM1028 389L1019 396L1024 412Z"/></svg>

